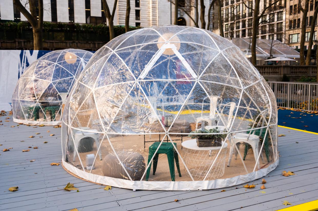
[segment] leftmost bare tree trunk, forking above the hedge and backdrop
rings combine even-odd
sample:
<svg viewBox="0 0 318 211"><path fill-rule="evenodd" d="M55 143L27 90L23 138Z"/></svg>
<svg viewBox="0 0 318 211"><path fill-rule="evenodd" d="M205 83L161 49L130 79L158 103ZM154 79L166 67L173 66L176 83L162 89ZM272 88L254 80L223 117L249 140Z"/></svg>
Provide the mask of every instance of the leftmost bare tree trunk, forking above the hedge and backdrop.
<svg viewBox="0 0 318 211"><path fill-rule="evenodd" d="M36 0L29 0L30 12L25 9L26 5L22 5L20 0L13 0L17 9L26 17L26 19L31 24L33 30L33 49L42 50L43 49L43 0L38 0L38 5ZM36 9L38 9L38 17Z"/></svg>

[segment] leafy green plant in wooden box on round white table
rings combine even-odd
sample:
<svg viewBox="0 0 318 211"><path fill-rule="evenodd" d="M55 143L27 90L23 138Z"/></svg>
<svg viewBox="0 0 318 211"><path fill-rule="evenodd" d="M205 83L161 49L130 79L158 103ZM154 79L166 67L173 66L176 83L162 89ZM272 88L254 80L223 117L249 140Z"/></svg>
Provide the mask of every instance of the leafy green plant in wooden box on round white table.
<svg viewBox="0 0 318 211"><path fill-rule="evenodd" d="M202 134L201 133L220 133L218 127L210 130L201 129L197 131L191 131L193 135L189 135L191 138L197 139L198 147L215 147L222 146L222 140L226 137L226 134Z"/></svg>

